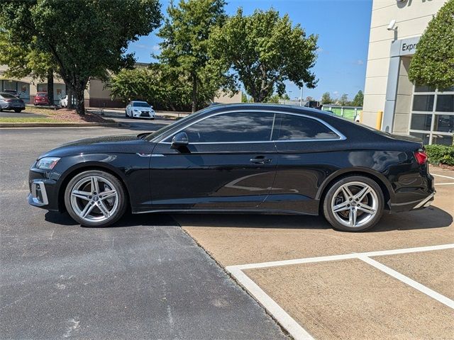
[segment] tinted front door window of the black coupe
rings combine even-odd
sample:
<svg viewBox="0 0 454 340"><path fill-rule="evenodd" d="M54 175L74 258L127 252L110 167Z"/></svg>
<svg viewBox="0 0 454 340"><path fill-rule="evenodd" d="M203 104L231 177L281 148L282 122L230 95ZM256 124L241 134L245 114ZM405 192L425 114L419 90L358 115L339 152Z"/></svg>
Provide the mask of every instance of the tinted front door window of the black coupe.
<svg viewBox="0 0 454 340"><path fill-rule="evenodd" d="M270 140L273 113L223 113L184 129L190 143Z"/></svg>

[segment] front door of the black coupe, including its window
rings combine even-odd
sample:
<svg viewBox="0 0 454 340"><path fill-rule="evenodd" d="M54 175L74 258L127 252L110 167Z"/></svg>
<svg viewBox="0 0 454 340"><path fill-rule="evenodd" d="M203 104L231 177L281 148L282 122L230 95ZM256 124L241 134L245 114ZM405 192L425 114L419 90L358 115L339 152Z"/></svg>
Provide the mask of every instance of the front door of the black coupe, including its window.
<svg viewBox="0 0 454 340"><path fill-rule="evenodd" d="M257 111L216 113L177 131L187 134L187 147L172 149L177 132L159 142L150 163L153 208L257 208L275 179L273 119Z"/></svg>

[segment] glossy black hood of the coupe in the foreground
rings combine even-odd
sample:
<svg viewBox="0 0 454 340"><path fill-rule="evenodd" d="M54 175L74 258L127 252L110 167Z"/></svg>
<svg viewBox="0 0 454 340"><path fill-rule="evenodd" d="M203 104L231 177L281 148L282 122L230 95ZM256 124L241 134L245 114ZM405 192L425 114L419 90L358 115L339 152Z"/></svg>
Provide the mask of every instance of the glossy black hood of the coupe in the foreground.
<svg viewBox="0 0 454 340"><path fill-rule="evenodd" d="M140 135L139 135L140 136ZM153 150L153 143L143 140L138 135L105 136L76 140L74 142L60 145L51 149L38 158L43 157L65 157L74 154L128 154L128 153L150 153Z"/></svg>

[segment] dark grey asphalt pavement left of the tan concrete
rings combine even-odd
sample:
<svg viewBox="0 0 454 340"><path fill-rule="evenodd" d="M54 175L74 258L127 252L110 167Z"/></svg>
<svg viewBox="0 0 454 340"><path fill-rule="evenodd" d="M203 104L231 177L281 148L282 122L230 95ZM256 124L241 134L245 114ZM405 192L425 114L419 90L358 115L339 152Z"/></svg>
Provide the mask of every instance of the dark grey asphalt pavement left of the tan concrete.
<svg viewBox="0 0 454 340"><path fill-rule="evenodd" d="M41 152L131 130L0 130L0 338L287 339L172 216L94 229L28 205Z"/></svg>

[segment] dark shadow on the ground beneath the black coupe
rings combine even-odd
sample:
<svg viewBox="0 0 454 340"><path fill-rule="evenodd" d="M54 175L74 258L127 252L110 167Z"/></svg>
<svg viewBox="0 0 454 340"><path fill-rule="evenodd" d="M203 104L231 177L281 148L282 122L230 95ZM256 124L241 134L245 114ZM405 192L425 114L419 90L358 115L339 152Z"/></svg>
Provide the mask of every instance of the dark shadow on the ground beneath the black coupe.
<svg viewBox="0 0 454 340"><path fill-rule="evenodd" d="M59 225L78 225L67 213L47 212L45 220ZM373 232L390 230L434 229L449 227L453 216L445 210L431 207L424 210L384 213ZM162 214L149 213L132 215L126 213L111 227L140 226L192 226L192 227L240 227L274 229L331 229L321 216L309 215L239 215L239 214Z"/></svg>

